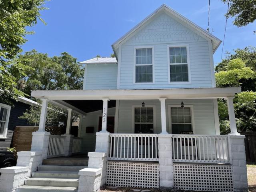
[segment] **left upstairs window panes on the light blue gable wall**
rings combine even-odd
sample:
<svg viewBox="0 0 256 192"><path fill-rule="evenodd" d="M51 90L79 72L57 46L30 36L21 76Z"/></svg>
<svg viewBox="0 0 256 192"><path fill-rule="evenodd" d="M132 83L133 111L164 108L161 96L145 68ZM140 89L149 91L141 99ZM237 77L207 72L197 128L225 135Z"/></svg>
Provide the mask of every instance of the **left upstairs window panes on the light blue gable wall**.
<svg viewBox="0 0 256 192"><path fill-rule="evenodd" d="M152 48L136 48L135 82L153 82Z"/></svg>

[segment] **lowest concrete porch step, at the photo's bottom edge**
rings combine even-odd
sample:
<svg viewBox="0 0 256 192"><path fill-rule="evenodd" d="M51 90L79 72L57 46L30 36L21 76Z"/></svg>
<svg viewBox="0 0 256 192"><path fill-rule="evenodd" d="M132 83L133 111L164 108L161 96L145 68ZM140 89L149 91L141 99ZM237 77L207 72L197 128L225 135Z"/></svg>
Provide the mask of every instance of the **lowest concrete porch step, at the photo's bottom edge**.
<svg viewBox="0 0 256 192"><path fill-rule="evenodd" d="M16 192L77 192L77 187L28 186L17 187Z"/></svg>

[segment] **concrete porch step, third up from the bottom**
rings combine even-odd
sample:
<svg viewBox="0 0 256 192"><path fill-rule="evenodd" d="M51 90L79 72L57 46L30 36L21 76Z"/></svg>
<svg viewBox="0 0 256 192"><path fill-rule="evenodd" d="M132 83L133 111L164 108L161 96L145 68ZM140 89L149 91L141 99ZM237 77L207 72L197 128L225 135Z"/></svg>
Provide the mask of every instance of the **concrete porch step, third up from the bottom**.
<svg viewBox="0 0 256 192"><path fill-rule="evenodd" d="M34 178L79 178L76 171L36 171L32 173Z"/></svg>

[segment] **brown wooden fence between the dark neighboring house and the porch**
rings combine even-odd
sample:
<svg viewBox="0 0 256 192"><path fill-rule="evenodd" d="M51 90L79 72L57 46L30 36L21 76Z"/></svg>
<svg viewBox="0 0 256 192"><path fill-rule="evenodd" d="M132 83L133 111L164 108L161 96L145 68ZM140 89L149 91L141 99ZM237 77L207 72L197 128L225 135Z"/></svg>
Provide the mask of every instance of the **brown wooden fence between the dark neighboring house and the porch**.
<svg viewBox="0 0 256 192"><path fill-rule="evenodd" d="M38 127L15 127L12 137L12 147L18 151L30 151L32 143L32 132L37 131Z"/></svg>

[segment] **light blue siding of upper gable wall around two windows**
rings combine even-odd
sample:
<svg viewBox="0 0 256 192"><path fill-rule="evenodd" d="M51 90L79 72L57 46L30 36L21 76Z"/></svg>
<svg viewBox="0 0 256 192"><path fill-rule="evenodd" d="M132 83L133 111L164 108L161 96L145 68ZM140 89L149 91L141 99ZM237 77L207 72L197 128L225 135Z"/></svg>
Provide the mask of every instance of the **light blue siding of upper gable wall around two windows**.
<svg viewBox="0 0 256 192"><path fill-rule="evenodd" d="M191 84L169 84L168 45L188 44ZM154 46L155 83L134 84L134 46ZM210 48L212 50L212 48ZM212 87L208 40L186 28L166 13L160 13L122 45L120 89Z"/></svg>

